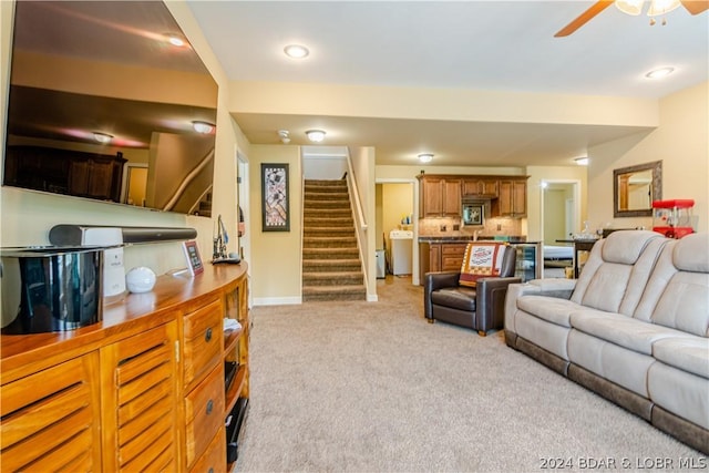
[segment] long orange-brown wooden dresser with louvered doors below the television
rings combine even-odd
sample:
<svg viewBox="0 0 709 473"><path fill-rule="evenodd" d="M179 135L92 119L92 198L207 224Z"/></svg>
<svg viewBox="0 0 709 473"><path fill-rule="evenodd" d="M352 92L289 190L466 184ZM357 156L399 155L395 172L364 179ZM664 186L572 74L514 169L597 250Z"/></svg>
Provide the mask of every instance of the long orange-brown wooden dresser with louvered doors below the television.
<svg viewBox="0 0 709 473"><path fill-rule="evenodd" d="M103 321L0 339L2 471L224 472L248 399L246 263L161 276ZM224 331L224 318L240 328ZM237 366L225 383L225 366Z"/></svg>

